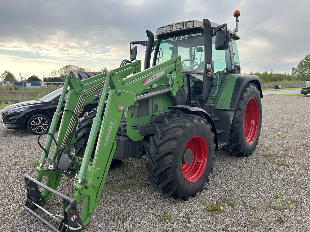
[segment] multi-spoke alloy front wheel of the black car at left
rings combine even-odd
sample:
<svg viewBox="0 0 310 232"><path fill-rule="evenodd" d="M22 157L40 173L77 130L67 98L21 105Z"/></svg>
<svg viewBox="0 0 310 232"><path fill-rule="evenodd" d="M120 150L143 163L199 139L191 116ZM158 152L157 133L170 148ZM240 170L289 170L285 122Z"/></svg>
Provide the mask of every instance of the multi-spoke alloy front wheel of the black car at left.
<svg viewBox="0 0 310 232"><path fill-rule="evenodd" d="M44 114L32 115L27 121L27 129L34 135L48 132L51 126L51 120Z"/></svg>

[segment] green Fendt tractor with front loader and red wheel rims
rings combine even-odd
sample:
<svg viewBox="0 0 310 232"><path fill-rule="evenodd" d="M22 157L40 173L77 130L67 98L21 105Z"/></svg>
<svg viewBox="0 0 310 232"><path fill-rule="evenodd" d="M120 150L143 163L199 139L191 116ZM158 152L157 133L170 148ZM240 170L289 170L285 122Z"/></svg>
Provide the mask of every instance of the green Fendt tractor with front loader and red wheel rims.
<svg viewBox="0 0 310 232"><path fill-rule="evenodd" d="M119 68L85 80L66 75L50 130L43 133L44 147L38 138L43 152L36 178L25 176L24 208L54 231L80 231L98 206L109 168L122 160L146 154L154 189L188 200L208 181L214 151L222 147L232 156L252 154L260 135L263 95L258 76L241 75L239 15L235 11L234 31L208 19L160 27L156 39L146 31L148 40L131 42L131 60L123 60ZM137 44L146 47L144 71L141 61L134 61ZM94 101L97 109L80 118L83 107ZM63 174L74 181L74 197L55 190ZM63 199L63 214L43 207L53 194Z"/></svg>

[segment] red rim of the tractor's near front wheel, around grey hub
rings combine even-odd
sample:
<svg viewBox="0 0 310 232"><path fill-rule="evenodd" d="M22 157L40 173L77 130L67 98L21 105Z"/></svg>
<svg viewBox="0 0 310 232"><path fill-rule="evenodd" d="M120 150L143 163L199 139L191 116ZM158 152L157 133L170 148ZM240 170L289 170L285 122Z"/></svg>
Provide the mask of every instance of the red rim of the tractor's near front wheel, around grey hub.
<svg viewBox="0 0 310 232"><path fill-rule="evenodd" d="M202 136L195 135L188 141L185 148L192 151L193 158L188 164L185 164L183 159L181 160L182 174L186 181L193 183L201 177L206 169L208 146Z"/></svg>

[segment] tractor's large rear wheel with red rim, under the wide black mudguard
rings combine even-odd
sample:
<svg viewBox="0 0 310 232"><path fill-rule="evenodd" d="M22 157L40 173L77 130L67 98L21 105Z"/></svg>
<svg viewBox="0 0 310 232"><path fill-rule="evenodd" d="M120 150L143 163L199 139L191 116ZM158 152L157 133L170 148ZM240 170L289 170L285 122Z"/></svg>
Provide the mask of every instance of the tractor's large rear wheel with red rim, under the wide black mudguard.
<svg viewBox="0 0 310 232"><path fill-rule="evenodd" d="M257 86L243 88L232 119L230 135L223 151L232 156L248 157L256 148L262 124L262 102Z"/></svg>

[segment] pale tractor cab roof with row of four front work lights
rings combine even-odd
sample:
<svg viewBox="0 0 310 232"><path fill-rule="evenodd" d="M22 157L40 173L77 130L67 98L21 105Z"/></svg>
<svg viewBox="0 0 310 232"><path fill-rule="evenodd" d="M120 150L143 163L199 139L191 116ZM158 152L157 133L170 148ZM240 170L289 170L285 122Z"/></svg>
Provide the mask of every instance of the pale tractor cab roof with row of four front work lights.
<svg viewBox="0 0 310 232"><path fill-rule="evenodd" d="M219 25L220 24L211 22L212 28L215 28ZM166 28L168 28L168 31ZM203 24L202 24L202 21L200 21L200 20L189 20L189 21L177 22L177 23L167 24L165 26L157 28L156 37L157 38L158 37L164 37L164 36L172 34L172 33L175 34L175 32L184 32L185 33L188 30L192 31L193 29L202 29L202 28L203 28ZM160 29L161 29L161 32L160 32ZM229 29L228 29L228 31L230 32L230 34L232 34L232 35L234 34L233 31L231 31ZM232 38L235 40L240 39L240 37L238 35L234 35Z"/></svg>

